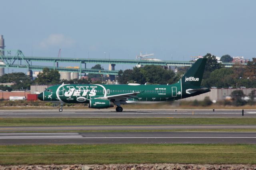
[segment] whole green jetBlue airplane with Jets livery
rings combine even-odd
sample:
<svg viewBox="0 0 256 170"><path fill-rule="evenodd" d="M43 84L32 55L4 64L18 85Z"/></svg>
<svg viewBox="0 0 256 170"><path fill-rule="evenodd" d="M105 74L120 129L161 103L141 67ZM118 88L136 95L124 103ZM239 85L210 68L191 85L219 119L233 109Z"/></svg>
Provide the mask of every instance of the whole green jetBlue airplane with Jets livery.
<svg viewBox="0 0 256 170"><path fill-rule="evenodd" d="M121 105L135 102L166 102L207 93L210 89L201 87L206 58L198 59L183 77L172 85L126 85L62 84L51 86L38 95L41 101L60 103L88 103L89 108L114 107L122 112Z"/></svg>

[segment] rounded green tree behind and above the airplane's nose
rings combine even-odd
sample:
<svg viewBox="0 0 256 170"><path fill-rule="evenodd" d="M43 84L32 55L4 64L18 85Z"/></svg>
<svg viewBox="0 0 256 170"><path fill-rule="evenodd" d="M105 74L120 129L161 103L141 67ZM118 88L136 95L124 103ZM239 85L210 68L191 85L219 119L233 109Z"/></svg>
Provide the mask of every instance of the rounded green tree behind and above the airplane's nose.
<svg viewBox="0 0 256 170"><path fill-rule="evenodd" d="M41 73L37 75L35 83L39 85L46 84L59 84L60 83L60 73L58 70L53 70L49 68L44 68Z"/></svg>

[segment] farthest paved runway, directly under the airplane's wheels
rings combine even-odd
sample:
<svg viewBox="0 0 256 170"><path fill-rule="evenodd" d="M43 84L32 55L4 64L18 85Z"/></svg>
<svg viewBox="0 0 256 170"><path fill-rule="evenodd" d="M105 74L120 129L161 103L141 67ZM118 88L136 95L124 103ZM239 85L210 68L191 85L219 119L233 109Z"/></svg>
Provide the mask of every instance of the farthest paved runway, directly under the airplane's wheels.
<svg viewBox="0 0 256 170"><path fill-rule="evenodd" d="M59 112L52 110L2 110L0 118L237 118L242 117L242 110L216 110L212 109L141 109L125 110L117 113L115 110L66 110ZM243 117L256 118L256 110L245 110Z"/></svg>

